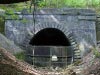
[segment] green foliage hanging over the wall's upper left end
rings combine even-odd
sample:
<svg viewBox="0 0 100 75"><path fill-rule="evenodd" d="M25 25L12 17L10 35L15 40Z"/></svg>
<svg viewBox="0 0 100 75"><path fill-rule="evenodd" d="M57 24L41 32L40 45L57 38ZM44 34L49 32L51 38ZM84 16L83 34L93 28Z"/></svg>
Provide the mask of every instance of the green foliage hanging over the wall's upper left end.
<svg viewBox="0 0 100 75"><path fill-rule="evenodd" d="M29 8L29 2L26 3L18 3L18 4L9 4L9 5L0 5L0 8L5 10L6 14L5 18L8 18L8 14L10 14L11 19L18 19L18 16L15 15L15 12L20 12L25 8Z"/></svg>

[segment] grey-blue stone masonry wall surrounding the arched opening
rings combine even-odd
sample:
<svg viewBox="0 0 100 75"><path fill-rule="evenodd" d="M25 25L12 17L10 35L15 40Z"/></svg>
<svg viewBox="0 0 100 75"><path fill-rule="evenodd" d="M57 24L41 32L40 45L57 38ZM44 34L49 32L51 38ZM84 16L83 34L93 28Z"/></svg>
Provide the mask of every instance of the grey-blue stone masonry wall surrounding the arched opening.
<svg viewBox="0 0 100 75"><path fill-rule="evenodd" d="M44 28L57 28L68 38L73 33L71 36L79 48L83 45L85 50L96 45L96 16L91 9L41 9L35 15L24 10L17 15L18 19L6 19L5 32L10 40L23 47Z"/></svg>

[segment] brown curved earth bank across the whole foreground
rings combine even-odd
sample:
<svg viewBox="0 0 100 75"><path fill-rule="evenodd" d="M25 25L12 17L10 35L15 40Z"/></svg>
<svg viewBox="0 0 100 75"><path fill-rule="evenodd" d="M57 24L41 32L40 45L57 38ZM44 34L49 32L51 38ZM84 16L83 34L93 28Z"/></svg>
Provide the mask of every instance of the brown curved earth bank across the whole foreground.
<svg viewBox="0 0 100 75"><path fill-rule="evenodd" d="M88 58L88 59L87 59ZM70 65L66 69L36 70L24 61L15 58L7 50L0 48L0 74L1 75L100 75L100 59L91 51L77 66Z"/></svg>

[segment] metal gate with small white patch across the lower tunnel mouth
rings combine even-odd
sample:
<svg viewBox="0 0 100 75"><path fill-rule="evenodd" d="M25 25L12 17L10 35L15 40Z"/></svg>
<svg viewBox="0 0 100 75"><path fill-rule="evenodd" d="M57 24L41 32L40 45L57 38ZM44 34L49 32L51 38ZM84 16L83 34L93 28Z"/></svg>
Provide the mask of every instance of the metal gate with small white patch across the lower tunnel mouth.
<svg viewBox="0 0 100 75"><path fill-rule="evenodd" d="M33 53L28 56L32 58L33 65L37 67L65 67L73 63L73 47L34 46Z"/></svg>

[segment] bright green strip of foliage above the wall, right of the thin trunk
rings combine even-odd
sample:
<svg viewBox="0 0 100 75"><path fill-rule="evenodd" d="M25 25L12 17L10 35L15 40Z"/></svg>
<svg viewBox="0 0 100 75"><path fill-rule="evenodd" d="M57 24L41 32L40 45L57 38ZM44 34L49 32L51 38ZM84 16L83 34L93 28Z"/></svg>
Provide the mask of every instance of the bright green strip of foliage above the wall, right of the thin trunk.
<svg viewBox="0 0 100 75"><path fill-rule="evenodd" d="M98 7L100 0L39 0L39 7Z"/></svg>

